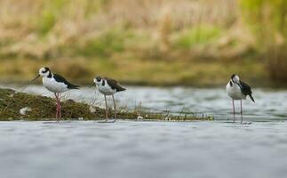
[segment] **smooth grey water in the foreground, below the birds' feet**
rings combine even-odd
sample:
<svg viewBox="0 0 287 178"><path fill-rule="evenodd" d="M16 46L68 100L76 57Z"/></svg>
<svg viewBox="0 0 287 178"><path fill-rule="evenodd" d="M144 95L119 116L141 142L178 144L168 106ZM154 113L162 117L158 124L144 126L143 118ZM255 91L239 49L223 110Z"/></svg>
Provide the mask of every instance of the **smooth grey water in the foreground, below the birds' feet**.
<svg viewBox="0 0 287 178"><path fill-rule="evenodd" d="M1 122L4 178L285 178L284 122Z"/></svg>

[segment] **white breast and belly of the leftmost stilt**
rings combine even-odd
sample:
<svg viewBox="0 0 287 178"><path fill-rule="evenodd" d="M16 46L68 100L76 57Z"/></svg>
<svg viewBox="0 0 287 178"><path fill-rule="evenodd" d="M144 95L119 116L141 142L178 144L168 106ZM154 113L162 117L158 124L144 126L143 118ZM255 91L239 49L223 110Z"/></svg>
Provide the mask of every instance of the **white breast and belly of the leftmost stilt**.
<svg viewBox="0 0 287 178"><path fill-rule="evenodd" d="M43 77L43 85L53 93L63 93L68 91L68 85L57 82L53 77Z"/></svg>

